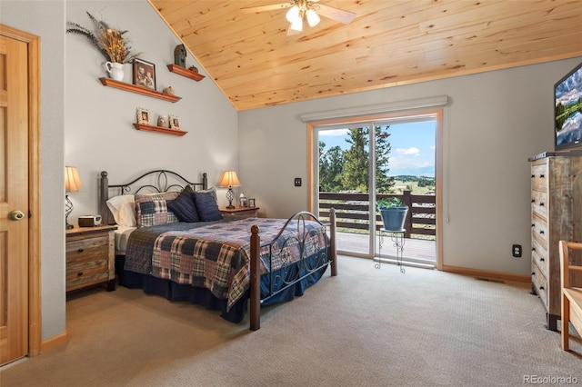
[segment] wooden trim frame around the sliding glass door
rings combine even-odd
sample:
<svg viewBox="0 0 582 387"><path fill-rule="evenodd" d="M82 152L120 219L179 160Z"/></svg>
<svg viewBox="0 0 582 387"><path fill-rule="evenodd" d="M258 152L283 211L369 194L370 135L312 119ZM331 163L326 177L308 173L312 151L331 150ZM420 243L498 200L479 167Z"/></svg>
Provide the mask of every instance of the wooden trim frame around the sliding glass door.
<svg viewBox="0 0 582 387"><path fill-rule="evenodd" d="M436 214L437 214L437 270L442 270L443 268L443 257L442 257L442 182L443 182L443 108L444 105L435 106L427 109L402 109L396 113L386 113L386 114L362 114L354 115L349 117L338 117L331 119L320 119L317 121L306 122L307 126L307 208L312 213L316 213L316 200L315 196L318 192L316 187L316 176L314 173L314 163L318 162L316 156L316 127L325 126L331 124L351 124L360 123L362 121L386 121L390 119L397 119L404 116L422 116L422 115L434 115L437 119L437 136L436 136L436 165L435 165L435 194L436 194Z"/></svg>

